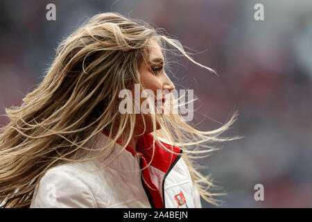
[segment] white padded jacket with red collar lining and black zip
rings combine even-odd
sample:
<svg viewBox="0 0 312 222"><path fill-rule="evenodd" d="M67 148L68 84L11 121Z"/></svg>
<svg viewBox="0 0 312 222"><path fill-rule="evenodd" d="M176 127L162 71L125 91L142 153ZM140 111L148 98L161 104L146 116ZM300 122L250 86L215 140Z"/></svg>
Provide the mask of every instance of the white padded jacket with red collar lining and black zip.
<svg viewBox="0 0 312 222"><path fill-rule="evenodd" d="M95 148L109 141L101 133ZM31 207L201 207L198 190L181 158L182 149L177 146L173 151L180 154L172 155L155 144L153 162L141 173L150 162L152 144L153 136L146 134L137 142L137 152L131 146L122 151L121 145L115 144L111 155L49 169L35 189ZM171 150L171 145L162 144ZM95 171L106 164L108 167Z"/></svg>

